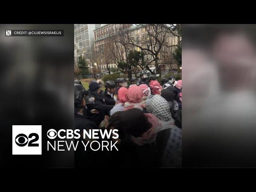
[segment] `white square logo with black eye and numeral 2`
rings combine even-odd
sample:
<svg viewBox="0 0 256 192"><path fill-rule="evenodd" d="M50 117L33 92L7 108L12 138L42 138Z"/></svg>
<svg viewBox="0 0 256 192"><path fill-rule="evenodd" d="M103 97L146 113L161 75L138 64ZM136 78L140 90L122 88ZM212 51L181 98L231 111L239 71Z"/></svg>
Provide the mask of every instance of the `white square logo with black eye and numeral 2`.
<svg viewBox="0 0 256 192"><path fill-rule="evenodd" d="M13 155L42 155L42 126L12 126Z"/></svg>

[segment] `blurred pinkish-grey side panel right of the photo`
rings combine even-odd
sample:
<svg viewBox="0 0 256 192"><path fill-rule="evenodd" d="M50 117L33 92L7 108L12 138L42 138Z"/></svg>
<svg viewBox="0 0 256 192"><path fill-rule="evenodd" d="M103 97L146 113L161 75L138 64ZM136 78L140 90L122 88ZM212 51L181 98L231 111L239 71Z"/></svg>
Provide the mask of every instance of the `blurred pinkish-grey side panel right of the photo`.
<svg viewBox="0 0 256 192"><path fill-rule="evenodd" d="M183 167L256 166L256 25L183 24Z"/></svg>

